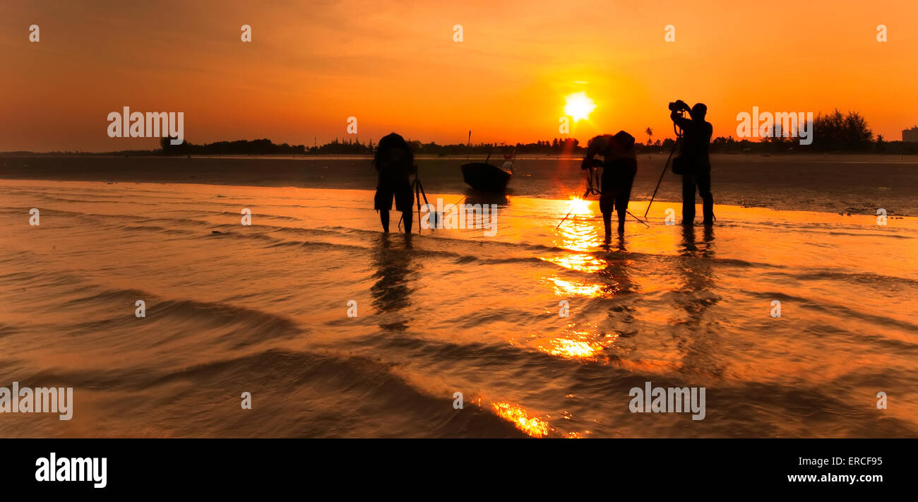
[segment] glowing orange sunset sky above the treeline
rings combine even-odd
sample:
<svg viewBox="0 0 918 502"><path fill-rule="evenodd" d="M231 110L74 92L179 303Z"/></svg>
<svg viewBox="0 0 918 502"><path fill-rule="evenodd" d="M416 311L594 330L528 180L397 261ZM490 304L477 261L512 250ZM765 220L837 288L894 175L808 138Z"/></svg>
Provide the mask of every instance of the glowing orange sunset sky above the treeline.
<svg viewBox="0 0 918 502"><path fill-rule="evenodd" d="M122 106L185 112L194 143L311 145L345 137L350 116L364 141L456 143L472 129L529 142L561 136L577 91L598 105L571 131L581 140L672 136L677 98L707 103L715 136L735 137L752 106L853 109L887 139L918 124L914 0L13 4L0 5L0 151L155 148L108 138Z"/></svg>

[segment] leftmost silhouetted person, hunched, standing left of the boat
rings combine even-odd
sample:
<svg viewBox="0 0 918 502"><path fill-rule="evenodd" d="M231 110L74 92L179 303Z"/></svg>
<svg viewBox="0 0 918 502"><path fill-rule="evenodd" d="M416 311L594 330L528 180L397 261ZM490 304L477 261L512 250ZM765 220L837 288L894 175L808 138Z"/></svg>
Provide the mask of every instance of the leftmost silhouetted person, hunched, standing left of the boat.
<svg viewBox="0 0 918 502"><path fill-rule="evenodd" d="M410 234L411 203L414 201L414 195L411 192L409 175L417 173L411 146L396 133L387 134L376 146L373 165L379 173L374 208L379 211L383 231L389 231L389 210L392 209L392 198L395 197L396 209L401 211L405 222L405 233Z"/></svg>

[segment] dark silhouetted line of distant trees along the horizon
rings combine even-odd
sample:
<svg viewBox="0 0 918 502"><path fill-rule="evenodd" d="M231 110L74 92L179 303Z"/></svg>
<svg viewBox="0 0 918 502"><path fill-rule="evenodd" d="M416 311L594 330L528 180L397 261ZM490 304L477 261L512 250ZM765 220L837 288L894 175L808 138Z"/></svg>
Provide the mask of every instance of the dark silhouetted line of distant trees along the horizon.
<svg viewBox="0 0 918 502"><path fill-rule="evenodd" d="M889 153L895 155L918 153L918 142L887 141L882 135L874 136L868 128L867 121L857 112L843 114L835 110L831 114L820 114L813 121L812 145L800 145L797 138L780 135L758 141L742 139L737 141L733 136L711 139L711 153ZM774 134L774 133L773 133ZM373 140L364 143L360 139L334 139L323 145L290 145L276 144L271 139L239 139L235 141L217 141L214 143L194 144L188 141L180 145L170 143L171 138L162 138L157 150L129 151L5 151L2 154L15 155L118 155L118 156L201 156L201 155L341 155L372 154L375 151ZM650 144L636 143L639 153L668 153L674 139L657 139ZM435 142L424 143L410 140L415 153L420 155L460 156L467 154L487 155L500 159L502 153L516 151L518 154L566 154L577 155L585 149L578 139L555 138L539 140L534 143L465 143L440 145Z"/></svg>

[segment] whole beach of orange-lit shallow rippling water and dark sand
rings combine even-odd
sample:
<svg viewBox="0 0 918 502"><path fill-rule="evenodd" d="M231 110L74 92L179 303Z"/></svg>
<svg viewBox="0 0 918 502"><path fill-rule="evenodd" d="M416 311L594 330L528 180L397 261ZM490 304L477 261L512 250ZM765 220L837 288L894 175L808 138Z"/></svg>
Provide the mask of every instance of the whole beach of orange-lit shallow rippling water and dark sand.
<svg viewBox="0 0 918 502"><path fill-rule="evenodd" d="M493 237L410 239L397 213L380 232L364 159L2 161L0 385L73 387L73 418L5 437L918 436L908 157L721 162L710 229L666 225L669 174L608 247L595 200L555 229L573 160L471 200L498 204ZM457 202L446 162L421 176ZM703 387L704 418L633 412L647 383Z"/></svg>

